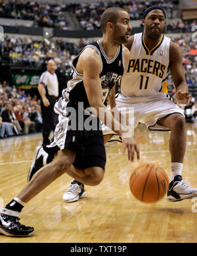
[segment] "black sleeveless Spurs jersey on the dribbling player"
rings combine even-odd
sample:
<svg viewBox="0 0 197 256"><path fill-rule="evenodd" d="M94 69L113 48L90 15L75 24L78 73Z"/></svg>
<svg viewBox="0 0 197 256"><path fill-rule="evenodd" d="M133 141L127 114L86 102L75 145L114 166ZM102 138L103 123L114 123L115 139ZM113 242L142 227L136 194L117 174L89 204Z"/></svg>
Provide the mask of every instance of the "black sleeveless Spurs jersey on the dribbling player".
<svg viewBox="0 0 197 256"><path fill-rule="evenodd" d="M114 86L115 82L120 80L123 74L123 48L122 45L120 45L114 58L108 60L108 57L104 53L104 50L102 49L102 45L100 44L99 40L95 41L94 43L90 43L89 45L86 45L81 53L87 47L95 49L100 58L102 59L102 70L99 76L102 86L102 102L105 103L106 98L110 93L110 90ZM89 101L87 99L83 84L83 74L79 74L76 70L77 61L81 53L79 53L79 55L77 55L77 57L72 62L72 68L74 70L72 79L68 81L67 88L62 91L62 96L66 99L69 99L70 101L83 102L83 107L86 108L89 107Z"/></svg>

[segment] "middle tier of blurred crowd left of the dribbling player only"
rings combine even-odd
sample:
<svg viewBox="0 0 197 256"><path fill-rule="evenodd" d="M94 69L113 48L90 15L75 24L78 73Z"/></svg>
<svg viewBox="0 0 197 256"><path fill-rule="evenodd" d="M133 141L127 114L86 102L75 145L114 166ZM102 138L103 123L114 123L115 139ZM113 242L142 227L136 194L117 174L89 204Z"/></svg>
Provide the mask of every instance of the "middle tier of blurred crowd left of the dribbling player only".
<svg viewBox="0 0 197 256"><path fill-rule="evenodd" d="M62 39L35 41L32 38L8 38L0 42L0 60L17 66L41 67L49 59L54 59L69 74L72 59L79 53L83 43L76 45Z"/></svg>

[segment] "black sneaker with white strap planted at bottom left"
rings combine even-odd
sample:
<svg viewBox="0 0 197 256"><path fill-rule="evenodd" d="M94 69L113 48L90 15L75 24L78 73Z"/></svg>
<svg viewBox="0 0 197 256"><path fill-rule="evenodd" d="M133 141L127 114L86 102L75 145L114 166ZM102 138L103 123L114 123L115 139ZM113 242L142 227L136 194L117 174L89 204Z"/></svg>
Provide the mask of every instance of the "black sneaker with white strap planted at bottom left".
<svg viewBox="0 0 197 256"><path fill-rule="evenodd" d="M0 233L5 236L33 236L34 228L20 224L18 215L16 211L0 209Z"/></svg>

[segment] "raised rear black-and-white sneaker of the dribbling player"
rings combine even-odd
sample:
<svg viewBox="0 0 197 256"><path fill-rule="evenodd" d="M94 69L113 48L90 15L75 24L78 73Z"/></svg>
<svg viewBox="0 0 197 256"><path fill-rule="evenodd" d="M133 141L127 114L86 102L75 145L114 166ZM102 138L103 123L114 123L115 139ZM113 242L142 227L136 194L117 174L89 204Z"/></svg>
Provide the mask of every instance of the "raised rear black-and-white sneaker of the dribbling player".
<svg viewBox="0 0 197 256"><path fill-rule="evenodd" d="M34 151L32 165L28 172L28 182L30 182L35 172L43 167L43 151L42 146L37 146Z"/></svg>

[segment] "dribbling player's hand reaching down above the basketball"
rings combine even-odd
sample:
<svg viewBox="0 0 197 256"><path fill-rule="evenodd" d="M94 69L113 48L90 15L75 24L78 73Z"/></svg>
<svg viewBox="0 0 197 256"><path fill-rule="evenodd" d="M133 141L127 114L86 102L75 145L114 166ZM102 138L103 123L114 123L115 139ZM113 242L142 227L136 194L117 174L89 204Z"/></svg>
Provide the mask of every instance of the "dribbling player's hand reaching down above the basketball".
<svg viewBox="0 0 197 256"><path fill-rule="evenodd" d="M133 138L121 138L123 143L123 155L125 155L125 151L128 151L128 160L133 162L135 152L137 153L137 159L140 159L140 151L137 146L136 141Z"/></svg>

